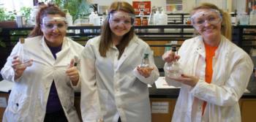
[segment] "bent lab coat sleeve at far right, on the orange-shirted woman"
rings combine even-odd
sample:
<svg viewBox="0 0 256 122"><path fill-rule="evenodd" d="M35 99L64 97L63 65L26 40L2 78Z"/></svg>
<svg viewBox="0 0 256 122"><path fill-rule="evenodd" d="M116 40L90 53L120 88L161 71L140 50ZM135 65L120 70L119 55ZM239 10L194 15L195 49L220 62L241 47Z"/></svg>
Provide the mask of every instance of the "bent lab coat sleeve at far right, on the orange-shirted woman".
<svg viewBox="0 0 256 122"><path fill-rule="evenodd" d="M206 102L219 106L232 106L244 94L249 78L252 75L252 69L252 59L249 56L245 56L236 61L224 85L208 84L203 80L199 80L190 92L198 99L203 99Z"/></svg>

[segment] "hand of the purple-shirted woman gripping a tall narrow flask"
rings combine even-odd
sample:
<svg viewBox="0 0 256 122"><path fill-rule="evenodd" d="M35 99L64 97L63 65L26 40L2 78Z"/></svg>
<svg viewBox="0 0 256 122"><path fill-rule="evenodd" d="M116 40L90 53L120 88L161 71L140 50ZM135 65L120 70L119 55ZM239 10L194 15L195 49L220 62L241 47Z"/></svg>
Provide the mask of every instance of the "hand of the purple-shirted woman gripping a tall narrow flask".
<svg viewBox="0 0 256 122"><path fill-rule="evenodd" d="M13 57L12 69L15 72L14 79L17 80L18 78L20 78L23 75L23 72L26 69L26 67L31 66L31 65L32 65L32 60L29 60L29 61L25 62L24 64L22 64L22 62L20 61L18 56Z"/></svg>

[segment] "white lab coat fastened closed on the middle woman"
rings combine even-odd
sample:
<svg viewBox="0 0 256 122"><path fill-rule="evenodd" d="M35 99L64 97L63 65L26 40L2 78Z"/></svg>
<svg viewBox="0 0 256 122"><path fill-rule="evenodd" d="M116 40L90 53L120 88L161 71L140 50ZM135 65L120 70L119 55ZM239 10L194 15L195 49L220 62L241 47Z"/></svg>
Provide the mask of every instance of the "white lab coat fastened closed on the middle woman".
<svg viewBox="0 0 256 122"><path fill-rule="evenodd" d="M151 76L147 78L139 75L136 70L144 53L149 53L150 64L154 66ZM81 58L81 67L83 67L81 74L86 79L83 80L81 88L83 120L88 118L83 110L90 106L97 107L100 103L105 122L116 122L119 116L122 122L151 121L147 84L153 84L159 77L159 72L146 42L135 36L125 48L121 58L118 59L118 49L114 45L110 47L106 57L100 56L99 37L95 37L86 43ZM97 86L94 85L95 83ZM85 85L91 86L91 93L88 89L86 91ZM91 94L94 94L94 98L86 101ZM97 102L98 95L99 102Z"/></svg>

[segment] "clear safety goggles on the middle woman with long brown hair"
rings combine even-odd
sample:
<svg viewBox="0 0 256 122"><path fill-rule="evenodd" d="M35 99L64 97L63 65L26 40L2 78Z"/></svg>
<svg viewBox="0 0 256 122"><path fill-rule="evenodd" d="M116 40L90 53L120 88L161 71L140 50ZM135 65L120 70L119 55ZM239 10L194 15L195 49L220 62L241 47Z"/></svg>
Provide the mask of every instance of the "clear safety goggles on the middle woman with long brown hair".
<svg viewBox="0 0 256 122"><path fill-rule="evenodd" d="M135 15L132 14L118 14L118 12L110 12L109 23L113 26L123 25L126 27L133 26Z"/></svg>

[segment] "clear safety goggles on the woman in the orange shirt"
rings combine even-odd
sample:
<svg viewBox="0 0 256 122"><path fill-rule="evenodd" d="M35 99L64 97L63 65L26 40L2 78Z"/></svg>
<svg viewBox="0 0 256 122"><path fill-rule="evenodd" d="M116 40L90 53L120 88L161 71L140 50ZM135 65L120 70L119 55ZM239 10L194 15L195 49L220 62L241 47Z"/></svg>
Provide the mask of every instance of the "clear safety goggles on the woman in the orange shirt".
<svg viewBox="0 0 256 122"><path fill-rule="evenodd" d="M202 28L206 22L210 24L217 24L222 21L222 15L217 9L211 9L210 11L197 12L191 17L192 25L195 28Z"/></svg>

